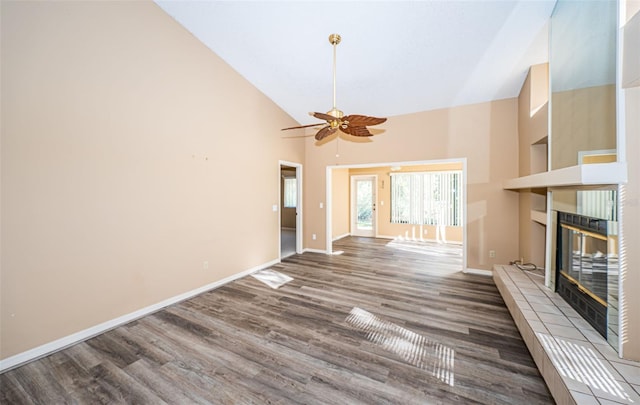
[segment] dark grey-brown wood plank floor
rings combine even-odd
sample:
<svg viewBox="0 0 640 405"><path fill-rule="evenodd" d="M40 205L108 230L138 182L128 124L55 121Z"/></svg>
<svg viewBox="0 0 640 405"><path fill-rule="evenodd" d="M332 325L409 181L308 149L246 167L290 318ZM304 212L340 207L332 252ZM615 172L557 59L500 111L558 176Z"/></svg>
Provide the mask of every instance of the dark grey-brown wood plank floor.
<svg viewBox="0 0 640 405"><path fill-rule="evenodd" d="M344 238L0 375L3 404L548 404L460 247Z"/></svg>

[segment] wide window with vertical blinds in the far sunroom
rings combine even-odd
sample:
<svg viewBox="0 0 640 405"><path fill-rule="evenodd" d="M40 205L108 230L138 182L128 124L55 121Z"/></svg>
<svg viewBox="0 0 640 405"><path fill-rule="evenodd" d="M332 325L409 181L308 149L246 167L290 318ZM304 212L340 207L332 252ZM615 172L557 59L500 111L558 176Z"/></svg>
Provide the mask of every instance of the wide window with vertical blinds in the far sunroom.
<svg viewBox="0 0 640 405"><path fill-rule="evenodd" d="M392 173L391 223L462 226L462 172Z"/></svg>

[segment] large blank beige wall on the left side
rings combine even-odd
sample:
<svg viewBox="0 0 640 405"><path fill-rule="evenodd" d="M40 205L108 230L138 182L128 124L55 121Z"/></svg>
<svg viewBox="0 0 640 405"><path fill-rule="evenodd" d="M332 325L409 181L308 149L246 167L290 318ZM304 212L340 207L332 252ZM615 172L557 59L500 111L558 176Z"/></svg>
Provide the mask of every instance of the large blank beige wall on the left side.
<svg viewBox="0 0 640 405"><path fill-rule="evenodd" d="M154 3L1 7L1 358L279 257L296 122Z"/></svg>

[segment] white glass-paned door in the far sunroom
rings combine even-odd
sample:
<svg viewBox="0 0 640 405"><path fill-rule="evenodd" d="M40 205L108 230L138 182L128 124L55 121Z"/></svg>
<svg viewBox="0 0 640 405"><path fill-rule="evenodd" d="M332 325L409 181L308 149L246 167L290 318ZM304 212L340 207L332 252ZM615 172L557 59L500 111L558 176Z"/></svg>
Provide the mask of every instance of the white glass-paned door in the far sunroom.
<svg viewBox="0 0 640 405"><path fill-rule="evenodd" d="M376 176L351 177L351 234L376 236Z"/></svg>

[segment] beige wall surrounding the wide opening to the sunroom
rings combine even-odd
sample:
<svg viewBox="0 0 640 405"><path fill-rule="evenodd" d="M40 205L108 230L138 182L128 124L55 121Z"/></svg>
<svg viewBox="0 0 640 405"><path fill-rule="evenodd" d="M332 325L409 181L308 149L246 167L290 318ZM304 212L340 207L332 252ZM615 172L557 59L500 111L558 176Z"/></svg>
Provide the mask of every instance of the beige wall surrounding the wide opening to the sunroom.
<svg viewBox="0 0 640 405"><path fill-rule="evenodd" d="M467 159L468 266L491 269L518 255L518 195L502 181L518 176L517 99L389 117L383 133L361 142L331 145L307 139L305 246L326 248L327 166ZM335 140L331 141L335 142ZM313 241L311 234L318 236ZM496 251L489 258L489 250Z"/></svg>

